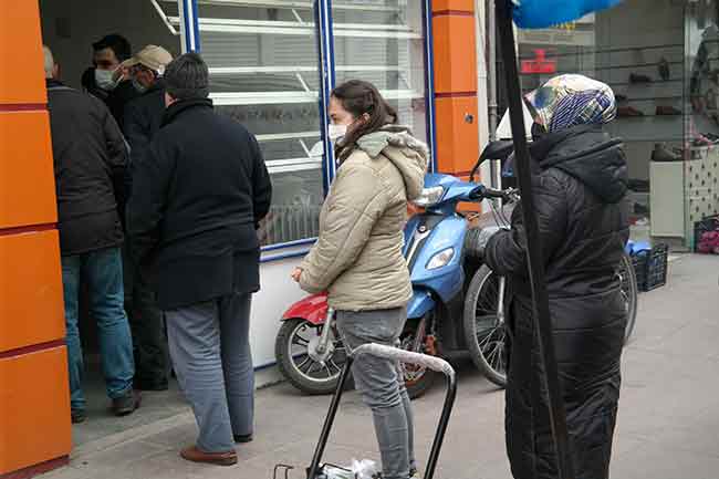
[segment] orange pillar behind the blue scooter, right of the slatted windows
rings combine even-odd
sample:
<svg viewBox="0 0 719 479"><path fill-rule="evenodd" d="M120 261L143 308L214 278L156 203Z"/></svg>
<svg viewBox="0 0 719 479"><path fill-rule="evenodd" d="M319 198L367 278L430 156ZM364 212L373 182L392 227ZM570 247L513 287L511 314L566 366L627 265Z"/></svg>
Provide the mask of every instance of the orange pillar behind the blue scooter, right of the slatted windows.
<svg viewBox="0 0 719 479"><path fill-rule="evenodd" d="M473 0L433 0L437 166L467 177L479 156Z"/></svg>

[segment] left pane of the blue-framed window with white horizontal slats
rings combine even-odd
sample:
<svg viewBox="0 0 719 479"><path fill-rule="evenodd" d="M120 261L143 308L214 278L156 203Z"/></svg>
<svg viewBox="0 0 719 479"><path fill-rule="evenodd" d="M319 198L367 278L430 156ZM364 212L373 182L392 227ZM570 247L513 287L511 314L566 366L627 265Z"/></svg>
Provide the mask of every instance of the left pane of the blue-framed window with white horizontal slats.
<svg viewBox="0 0 719 479"><path fill-rule="evenodd" d="M262 244L316 237L324 188L323 157L312 152L320 142L312 3L200 0L197 17L216 110L257 136L272 178Z"/></svg>

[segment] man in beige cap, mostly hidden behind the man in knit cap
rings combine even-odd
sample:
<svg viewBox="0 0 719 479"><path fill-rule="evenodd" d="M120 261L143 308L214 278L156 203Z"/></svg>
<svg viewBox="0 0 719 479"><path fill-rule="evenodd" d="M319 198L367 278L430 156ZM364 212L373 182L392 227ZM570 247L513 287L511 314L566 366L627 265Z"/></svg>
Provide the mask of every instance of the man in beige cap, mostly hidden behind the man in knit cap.
<svg viewBox="0 0 719 479"><path fill-rule="evenodd" d="M121 64L135 88L142 93L125 107L125 135L132 148L125 187L132 195L132 171L143 160L149 143L159 129L165 114L165 67L173 55L161 46L147 45ZM140 391L167 389L167 343L163 314L155 294L133 264L132 242L125 249L125 310L133 332L136 374L134 385Z"/></svg>

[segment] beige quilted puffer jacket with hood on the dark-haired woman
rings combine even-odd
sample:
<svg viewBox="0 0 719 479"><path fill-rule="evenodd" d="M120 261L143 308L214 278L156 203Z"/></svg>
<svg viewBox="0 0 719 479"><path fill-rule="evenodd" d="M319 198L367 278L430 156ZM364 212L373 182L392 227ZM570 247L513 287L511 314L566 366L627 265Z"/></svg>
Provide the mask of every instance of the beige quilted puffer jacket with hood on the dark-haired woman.
<svg viewBox="0 0 719 479"><path fill-rule="evenodd" d="M320 237L300 267L302 289L329 291L330 306L342 311L408 303L403 229L407 200L421 194L428 156L427 146L397 125L357 140L322 207Z"/></svg>

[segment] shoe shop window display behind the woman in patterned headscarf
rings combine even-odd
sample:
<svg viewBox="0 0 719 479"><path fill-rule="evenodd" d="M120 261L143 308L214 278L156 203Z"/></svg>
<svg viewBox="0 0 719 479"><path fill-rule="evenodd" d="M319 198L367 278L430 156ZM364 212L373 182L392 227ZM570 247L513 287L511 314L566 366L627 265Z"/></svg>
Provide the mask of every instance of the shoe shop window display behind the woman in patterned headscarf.
<svg viewBox="0 0 719 479"><path fill-rule="evenodd" d="M625 142L636 240L691 246L694 223L718 212L717 14L713 0L625 0L576 22L519 32L524 92L563 73L614 90L618 114L607 129ZM503 92L499 97L503 111Z"/></svg>

